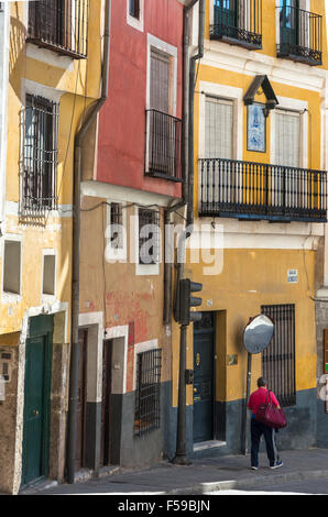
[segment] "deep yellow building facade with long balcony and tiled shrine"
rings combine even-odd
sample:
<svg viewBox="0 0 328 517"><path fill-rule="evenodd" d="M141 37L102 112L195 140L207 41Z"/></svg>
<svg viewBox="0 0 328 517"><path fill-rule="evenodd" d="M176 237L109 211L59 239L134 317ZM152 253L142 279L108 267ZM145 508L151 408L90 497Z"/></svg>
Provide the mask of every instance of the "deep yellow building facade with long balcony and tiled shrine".
<svg viewBox="0 0 328 517"><path fill-rule="evenodd" d="M203 284L203 319L189 328L187 345L194 455L243 450L243 331L260 314L275 332L252 355L251 391L264 375L285 408L278 447L325 442L317 386L327 318L326 84L325 2L206 0L195 79L195 226L185 264L185 276ZM175 327L174 407L178 336Z"/></svg>

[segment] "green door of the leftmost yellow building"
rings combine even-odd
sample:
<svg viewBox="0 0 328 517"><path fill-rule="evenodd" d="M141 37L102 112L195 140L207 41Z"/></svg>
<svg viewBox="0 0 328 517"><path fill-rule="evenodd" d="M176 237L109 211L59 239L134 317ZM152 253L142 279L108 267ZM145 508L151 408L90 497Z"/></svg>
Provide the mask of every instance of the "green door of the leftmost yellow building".
<svg viewBox="0 0 328 517"><path fill-rule="evenodd" d="M22 485L48 474L52 317L30 320L26 340Z"/></svg>

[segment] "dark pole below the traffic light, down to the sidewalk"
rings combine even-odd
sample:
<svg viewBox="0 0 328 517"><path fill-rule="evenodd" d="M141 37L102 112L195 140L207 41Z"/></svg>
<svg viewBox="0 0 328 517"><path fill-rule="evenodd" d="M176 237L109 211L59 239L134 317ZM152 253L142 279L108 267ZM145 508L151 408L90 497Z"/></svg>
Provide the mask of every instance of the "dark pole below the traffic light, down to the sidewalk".
<svg viewBox="0 0 328 517"><path fill-rule="evenodd" d="M178 405L177 405L177 430L176 430L176 452L173 463L189 465L192 461L187 457L186 439L186 344L187 324L181 326L179 341L179 373L178 373Z"/></svg>

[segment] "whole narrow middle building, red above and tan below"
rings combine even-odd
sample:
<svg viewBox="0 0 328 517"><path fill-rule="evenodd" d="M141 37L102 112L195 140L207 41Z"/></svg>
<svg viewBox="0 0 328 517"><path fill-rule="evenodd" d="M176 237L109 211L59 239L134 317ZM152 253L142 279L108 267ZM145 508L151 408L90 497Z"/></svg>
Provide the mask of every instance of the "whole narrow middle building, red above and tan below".
<svg viewBox="0 0 328 517"><path fill-rule="evenodd" d="M183 189L184 6L116 0L110 16L108 98L81 182L79 428L94 446L79 466L96 470L165 455L164 217Z"/></svg>

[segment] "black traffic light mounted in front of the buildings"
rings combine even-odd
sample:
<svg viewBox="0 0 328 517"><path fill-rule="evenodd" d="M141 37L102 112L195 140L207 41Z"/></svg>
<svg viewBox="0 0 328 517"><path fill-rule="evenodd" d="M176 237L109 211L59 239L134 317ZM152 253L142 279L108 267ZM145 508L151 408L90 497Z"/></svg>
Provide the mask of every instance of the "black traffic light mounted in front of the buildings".
<svg viewBox="0 0 328 517"><path fill-rule="evenodd" d="M203 300L199 297L192 296L203 289L203 284L192 282L189 278L182 278L178 284L178 322L189 324L190 321L199 321L201 312L193 312L190 307L198 307Z"/></svg>

